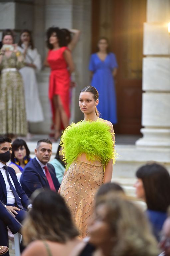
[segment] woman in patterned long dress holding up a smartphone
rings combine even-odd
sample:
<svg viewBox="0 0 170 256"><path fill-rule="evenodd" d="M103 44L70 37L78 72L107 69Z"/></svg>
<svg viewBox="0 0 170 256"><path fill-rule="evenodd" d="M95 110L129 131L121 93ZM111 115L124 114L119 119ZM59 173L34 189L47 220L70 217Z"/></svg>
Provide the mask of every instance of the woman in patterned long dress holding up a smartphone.
<svg viewBox="0 0 170 256"><path fill-rule="evenodd" d="M18 69L24 66L23 55L14 44L14 34L2 34L0 49L0 134L15 137L27 134L24 86Z"/></svg>

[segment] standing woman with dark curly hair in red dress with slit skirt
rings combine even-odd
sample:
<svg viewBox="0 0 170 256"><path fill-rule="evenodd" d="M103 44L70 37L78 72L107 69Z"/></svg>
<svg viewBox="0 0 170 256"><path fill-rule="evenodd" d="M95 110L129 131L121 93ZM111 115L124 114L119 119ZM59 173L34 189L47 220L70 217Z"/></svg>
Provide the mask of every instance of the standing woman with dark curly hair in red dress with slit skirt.
<svg viewBox="0 0 170 256"><path fill-rule="evenodd" d="M74 71L74 63L70 50L64 45L64 35L57 27L47 30L47 46L49 52L45 65L50 66L49 99L52 105L55 139L61 136L61 129L69 124L70 75Z"/></svg>

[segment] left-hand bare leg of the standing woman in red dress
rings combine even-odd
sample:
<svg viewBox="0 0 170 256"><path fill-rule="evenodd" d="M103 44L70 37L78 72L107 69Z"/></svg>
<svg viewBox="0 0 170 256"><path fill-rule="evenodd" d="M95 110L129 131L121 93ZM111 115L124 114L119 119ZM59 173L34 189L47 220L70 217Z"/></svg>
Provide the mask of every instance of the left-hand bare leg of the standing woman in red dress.
<svg viewBox="0 0 170 256"><path fill-rule="evenodd" d="M61 133L60 133L61 117L60 117L60 112L59 112L58 98L59 98L59 95L54 95L54 97L53 97L53 104L54 104L54 107L55 107L55 123L54 123L55 134L54 134L54 138L56 140L61 135Z"/></svg>

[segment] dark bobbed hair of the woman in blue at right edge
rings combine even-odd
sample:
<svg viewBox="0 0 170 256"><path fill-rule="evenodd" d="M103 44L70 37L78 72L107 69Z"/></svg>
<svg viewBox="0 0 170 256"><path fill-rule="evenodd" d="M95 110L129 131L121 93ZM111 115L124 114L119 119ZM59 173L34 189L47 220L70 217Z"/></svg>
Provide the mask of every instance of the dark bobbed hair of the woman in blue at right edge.
<svg viewBox="0 0 170 256"><path fill-rule="evenodd" d="M141 179L149 210L166 212L170 205L170 175L167 169L155 162L141 166L136 177Z"/></svg>

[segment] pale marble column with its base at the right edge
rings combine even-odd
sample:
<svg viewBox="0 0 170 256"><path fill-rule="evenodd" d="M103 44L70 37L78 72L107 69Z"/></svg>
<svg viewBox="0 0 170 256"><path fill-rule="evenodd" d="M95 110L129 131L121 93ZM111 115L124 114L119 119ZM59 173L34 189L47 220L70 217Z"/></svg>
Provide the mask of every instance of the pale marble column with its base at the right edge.
<svg viewBox="0 0 170 256"><path fill-rule="evenodd" d="M137 146L170 146L170 0L147 0L144 23L142 126Z"/></svg>

